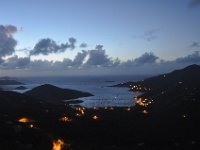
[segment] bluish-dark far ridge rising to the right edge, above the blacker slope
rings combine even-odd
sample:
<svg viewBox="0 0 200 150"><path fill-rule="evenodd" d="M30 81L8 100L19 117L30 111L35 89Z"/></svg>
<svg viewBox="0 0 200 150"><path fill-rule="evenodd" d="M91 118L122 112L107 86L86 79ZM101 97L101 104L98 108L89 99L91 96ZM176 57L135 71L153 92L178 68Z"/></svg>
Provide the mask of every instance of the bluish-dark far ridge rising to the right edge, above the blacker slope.
<svg viewBox="0 0 200 150"><path fill-rule="evenodd" d="M121 83L115 86L133 87L135 85L141 88L133 88L132 90L145 92L148 90L145 90L144 87L155 90L182 83L200 84L200 66L194 64L180 70L175 70L171 73L150 77L142 81Z"/></svg>

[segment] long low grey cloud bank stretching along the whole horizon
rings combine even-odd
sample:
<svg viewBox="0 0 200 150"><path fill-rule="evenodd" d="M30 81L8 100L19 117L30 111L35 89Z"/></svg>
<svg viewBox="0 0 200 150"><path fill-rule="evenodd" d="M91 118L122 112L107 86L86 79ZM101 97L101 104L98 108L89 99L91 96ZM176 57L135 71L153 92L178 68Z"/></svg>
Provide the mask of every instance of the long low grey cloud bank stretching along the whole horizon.
<svg viewBox="0 0 200 150"><path fill-rule="evenodd" d="M91 58L92 59L91 59ZM98 61L94 60L97 58ZM83 50L74 60L65 58L62 61L30 60L29 57L10 57L0 64L1 74L5 71L14 75L50 76L50 75L144 75L160 74L180 69L190 64L200 64L200 52L194 52L171 61L156 61L151 52L127 60L112 59L105 50ZM79 60L79 61L78 61ZM90 60L90 61L89 61ZM102 61L104 60L104 61ZM78 63L75 63L78 62ZM6 75L4 73L4 75Z"/></svg>

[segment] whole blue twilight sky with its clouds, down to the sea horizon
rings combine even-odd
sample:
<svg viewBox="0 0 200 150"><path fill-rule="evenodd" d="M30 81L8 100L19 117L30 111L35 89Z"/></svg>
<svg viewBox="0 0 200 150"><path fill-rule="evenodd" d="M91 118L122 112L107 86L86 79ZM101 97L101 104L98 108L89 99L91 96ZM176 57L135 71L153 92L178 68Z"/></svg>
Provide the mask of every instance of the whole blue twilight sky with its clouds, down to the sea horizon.
<svg viewBox="0 0 200 150"><path fill-rule="evenodd" d="M200 0L1 0L0 76L159 74L199 50Z"/></svg>

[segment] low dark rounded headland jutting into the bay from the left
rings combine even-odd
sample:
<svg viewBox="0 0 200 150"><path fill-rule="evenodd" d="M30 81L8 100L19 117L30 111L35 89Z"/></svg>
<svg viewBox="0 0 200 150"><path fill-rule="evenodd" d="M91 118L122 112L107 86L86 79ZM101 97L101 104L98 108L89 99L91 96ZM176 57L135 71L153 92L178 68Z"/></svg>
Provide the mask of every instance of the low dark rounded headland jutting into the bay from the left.
<svg viewBox="0 0 200 150"><path fill-rule="evenodd" d="M92 94L87 92L62 89L50 84L38 86L30 91L25 92L25 94L43 99L45 101L60 101L92 96Z"/></svg>

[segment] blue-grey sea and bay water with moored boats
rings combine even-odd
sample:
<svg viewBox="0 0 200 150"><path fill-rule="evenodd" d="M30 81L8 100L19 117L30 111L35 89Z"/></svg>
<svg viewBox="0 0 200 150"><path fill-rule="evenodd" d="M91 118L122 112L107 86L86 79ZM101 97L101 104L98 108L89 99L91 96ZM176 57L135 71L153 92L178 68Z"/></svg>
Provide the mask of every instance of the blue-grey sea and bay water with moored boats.
<svg viewBox="0 0 200 150"><path fill-rule="evenodd" d="M94 96L82 97L76 100L83 107L131 107L135 105L134 97L140 93L132 92L129 88L112 87L128 81L139 81L147 76L67 76L67 77L17 77L17 81L24 83L26 90L15 90L17 86L7 86L9 90L26 92L42 84L52 84L60 88L89 92ZM76 104L77 105L77 104Z"/></svg>

